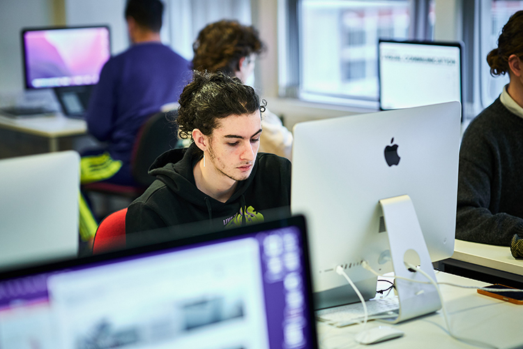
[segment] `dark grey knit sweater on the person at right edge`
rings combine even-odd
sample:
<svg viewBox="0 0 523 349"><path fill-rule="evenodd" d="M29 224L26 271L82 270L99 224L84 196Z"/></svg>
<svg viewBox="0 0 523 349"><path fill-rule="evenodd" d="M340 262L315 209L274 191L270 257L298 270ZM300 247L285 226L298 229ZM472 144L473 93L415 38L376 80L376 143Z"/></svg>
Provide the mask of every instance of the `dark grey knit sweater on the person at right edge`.
<svg viewBox="0 0 523 349"><path fill-rule="evenodd" d="M464 133L456 238L510 246L523 235L523 119L497 98Z"/></svg>

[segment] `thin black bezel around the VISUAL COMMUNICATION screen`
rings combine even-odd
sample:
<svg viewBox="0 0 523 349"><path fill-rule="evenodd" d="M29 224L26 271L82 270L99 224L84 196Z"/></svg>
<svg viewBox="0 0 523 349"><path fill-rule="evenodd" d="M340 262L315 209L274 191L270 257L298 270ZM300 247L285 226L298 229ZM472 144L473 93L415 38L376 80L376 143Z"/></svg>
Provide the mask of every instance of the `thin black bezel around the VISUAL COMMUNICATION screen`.
<svg viewBox="0 0 523 349"><path fill-rule="evenodd" d="M429 41L429 40L391 40L391 39L379 39L378 40L378 101L379 101L379 110L393 110L391 108L384 108L381 105L381 43L399 43L399 44L409 44L409 45L432 45L432 46L443 46L443 47L457 47L460 50L460 89L461 89L461 101L462 105L462 121L464 115L464 100L467 94L465 93L464 84L465 80L465 68L463 66L464 62L464 43L461 41Z"/></svg>

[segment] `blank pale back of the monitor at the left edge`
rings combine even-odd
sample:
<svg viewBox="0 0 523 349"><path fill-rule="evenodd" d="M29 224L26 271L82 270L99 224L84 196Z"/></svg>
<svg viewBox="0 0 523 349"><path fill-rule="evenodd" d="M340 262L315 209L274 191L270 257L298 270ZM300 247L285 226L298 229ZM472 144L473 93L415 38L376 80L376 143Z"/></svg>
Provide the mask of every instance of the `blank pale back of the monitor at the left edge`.
<svg viewBox="0 0 523 349"><path fill-rule="evenodd" d="M0 160L0 270L75 257L78 195L76 151Z"/></svg>

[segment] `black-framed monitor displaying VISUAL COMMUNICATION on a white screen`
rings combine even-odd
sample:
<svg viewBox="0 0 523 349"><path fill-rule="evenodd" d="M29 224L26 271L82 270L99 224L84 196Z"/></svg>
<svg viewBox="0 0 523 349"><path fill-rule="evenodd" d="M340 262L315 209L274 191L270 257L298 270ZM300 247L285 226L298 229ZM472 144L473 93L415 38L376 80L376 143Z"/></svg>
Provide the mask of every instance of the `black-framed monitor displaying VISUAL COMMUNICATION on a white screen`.
<svg viewBox="0 0 523 349"><path fill-rule="evenodd" d="M463 101L462 43L379 40L379 107Z"/></svg>

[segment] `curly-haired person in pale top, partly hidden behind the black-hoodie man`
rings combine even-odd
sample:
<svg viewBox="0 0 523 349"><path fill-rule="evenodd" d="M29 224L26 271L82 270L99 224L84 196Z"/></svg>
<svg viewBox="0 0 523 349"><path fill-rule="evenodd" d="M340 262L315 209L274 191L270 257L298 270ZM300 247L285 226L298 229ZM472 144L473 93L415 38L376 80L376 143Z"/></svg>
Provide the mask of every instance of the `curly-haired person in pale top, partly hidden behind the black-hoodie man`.
<svg viewBox="0 0 523 349"><path fill-rule="evenodd" d="M193 68L201 71L222 71L245 83L254 72L255 59L264 50L256 29L236 21L221 20L199 32L192 49ZM261 119L259 151L291 159L292 133L278 116L266 110Z"/></svg>

